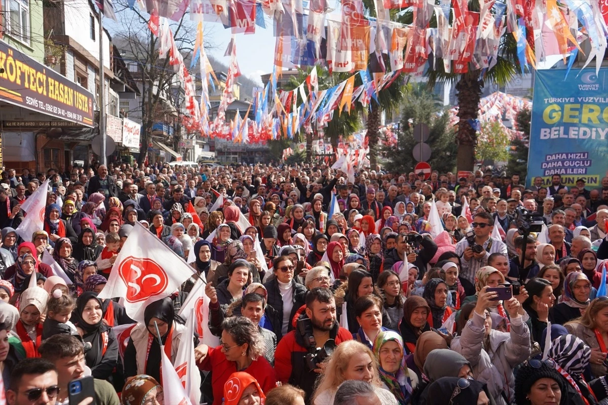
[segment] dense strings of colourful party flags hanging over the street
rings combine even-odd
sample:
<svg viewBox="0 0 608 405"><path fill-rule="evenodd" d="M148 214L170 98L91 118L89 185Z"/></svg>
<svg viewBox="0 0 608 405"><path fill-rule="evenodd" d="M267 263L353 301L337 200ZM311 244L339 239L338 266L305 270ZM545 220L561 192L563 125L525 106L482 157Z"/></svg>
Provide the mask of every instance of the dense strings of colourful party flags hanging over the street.
<svg viewBox="0 0 608 405"><path fill-rule="evenodd" d="M582 52L580 44L587 39L591 47L585 66L595 58L599 69L608 43L608 0L480 0L478 11L468 9L468 0L440 0L437 5L435 0L374 0L375 18L366 13L362 0L341 0L336 10L330 7L336 2L328 0L129 2L131 7L137 2L150 13L150 29L161 40L161 56L168 53L176 69L185 93L187 114L183 120L188 131L243 143L322 131L334 112L348 114L356 102L368 107L371 98L402 74L420 76L426 69L466 73L474 69L483 76L499 60L505 33L513 35L517 43L522 72L558 57L567 66L567 75ZM187 11L190 19L198 22L189 70L199 64L199 101L168 24L168 20L179 21ZM412 24L392 21L395 12L402 11L412 13ZM246 118L237 114L226 121L227 106L236 98L233 84L240 76L235 35L266 28L266 18L272 20L275 36L271 80L254 91ZM433 18L435 27L430 27ZM209 121L209 87L215 90L219 82L204 50L203 22L222 24L233 35L226 52L230 56L226 86L213 121ZM294 90L277 91L282 69L291 67L312 70ZM317 67L326 67L330 74L352 75L330 89L319 90ZM506 97L493 96L482 106L482 122L485 111L500 109L499 103L505 103ZM513 108L507 109L508 114L512 112Z"/></svg>

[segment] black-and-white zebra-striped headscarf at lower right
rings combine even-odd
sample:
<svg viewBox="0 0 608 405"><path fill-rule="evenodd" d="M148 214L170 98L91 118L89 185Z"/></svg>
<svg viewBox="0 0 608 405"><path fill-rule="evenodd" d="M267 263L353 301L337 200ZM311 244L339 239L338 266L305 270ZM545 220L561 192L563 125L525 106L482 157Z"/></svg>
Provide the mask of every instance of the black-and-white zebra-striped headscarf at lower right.
<svg viewBox="0 0 608 405"><path fill-rule="evenodd" d="M551 342L549 357L568 374L580 377L591 360L591 349L574 335L561 335Z"/></svg>

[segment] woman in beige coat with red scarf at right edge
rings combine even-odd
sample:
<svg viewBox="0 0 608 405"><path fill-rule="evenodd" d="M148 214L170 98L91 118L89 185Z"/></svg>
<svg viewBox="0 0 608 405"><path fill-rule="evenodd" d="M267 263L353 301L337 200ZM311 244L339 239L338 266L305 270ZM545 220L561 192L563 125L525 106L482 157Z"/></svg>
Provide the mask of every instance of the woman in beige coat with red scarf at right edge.
<svg viewBox="0 0 608 405"><path fill-rule="evenodd" d="M591 349L591 374L599 377L608 373L608 298L599 297L590 302L584 315L567 322L564 327L572 335L582 339Z"/></svg>

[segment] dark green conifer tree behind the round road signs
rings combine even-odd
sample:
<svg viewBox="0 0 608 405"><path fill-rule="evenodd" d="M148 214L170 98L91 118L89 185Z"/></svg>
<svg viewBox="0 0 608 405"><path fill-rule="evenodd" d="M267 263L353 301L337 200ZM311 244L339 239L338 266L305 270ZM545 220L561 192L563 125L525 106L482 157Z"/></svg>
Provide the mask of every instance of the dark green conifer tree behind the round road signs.
<svg viewBox="0 0 608 405"><path fill-rule="evenodd" d="M454 157L458 148L455 132L449 127L447 112L424 84L413 86L402 101L397 145L382 148L387 160L385 167L389 171L400 173L413 170L418 163L412 157L412 149L417 143L413 137L413 128L418 123L429 126L429 139L426 143L432 148L428 161L431 168L442 173L454 170Z"/></svg>

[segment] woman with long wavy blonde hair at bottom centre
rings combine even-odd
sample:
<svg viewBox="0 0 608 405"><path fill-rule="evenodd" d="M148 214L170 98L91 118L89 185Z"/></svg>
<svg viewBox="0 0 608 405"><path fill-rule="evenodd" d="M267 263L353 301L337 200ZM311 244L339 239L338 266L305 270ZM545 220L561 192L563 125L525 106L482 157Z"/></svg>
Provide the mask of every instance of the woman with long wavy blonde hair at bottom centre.
<svg viewBox="0 0 608 405"><path fill-rule="evenodd" d="M333 404L337 387L348 379L371 384L381 404L397 405L395 395L382 388L378 362L366 345L357 341L342 342L323 363L323 375L313 395L314 405Z"/></svg>

